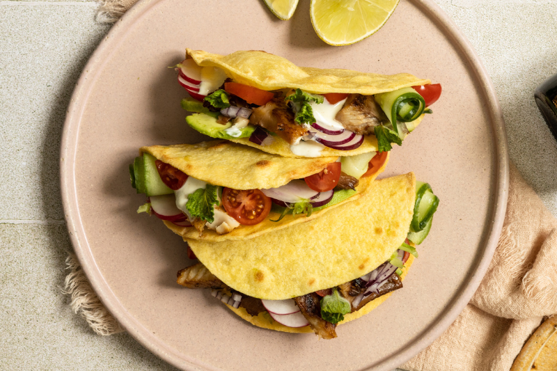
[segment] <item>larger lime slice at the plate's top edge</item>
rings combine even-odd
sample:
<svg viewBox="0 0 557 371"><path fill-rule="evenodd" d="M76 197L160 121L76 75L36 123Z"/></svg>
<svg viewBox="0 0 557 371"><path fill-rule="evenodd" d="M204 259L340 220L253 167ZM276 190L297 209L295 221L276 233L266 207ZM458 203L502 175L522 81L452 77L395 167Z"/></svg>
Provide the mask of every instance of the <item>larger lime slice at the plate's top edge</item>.
<svg viewBox="0 0 557 371"><path fill-rule="evenodd" d="M350 45L377 32L399 0L311 0L311 23L330 45Z"/></svg>

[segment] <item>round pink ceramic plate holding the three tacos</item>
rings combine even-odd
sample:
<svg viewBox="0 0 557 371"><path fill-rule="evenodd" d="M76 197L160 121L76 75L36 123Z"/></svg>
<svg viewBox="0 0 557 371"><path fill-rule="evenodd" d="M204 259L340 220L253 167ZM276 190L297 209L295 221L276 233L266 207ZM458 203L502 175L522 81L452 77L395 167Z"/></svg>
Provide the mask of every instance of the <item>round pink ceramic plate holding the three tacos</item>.
<svg viewBox="0 0 557 371"><path fill-rule="evenodd" d="M68 109L61 181L75 251L97 294L151 352L185 370L391 370L460 313L482 278L503 223L505 129L471 46L432 0L402 0L375 35L331 47L311 28L309 3L279 21L262 1L142 0L101 42ZM396 147L385 175L414 171L441 204L405 287L370 315L319 341L258 329L207 290L175 283L185 244L136 214L127 166L141 145L195 143L185 90L168 66L185 47L228 54L262 49L298 65L392 74L443 85L441 100Z"/></svg>

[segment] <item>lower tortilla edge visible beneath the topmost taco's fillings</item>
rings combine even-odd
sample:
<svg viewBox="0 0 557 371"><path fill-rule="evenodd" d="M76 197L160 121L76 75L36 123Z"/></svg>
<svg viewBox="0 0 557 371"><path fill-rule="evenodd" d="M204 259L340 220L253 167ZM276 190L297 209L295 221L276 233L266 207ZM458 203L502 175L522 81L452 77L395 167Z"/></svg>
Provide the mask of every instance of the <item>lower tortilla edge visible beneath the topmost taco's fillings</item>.
<svg viewBox="0 0 557 371"><path fill-rule="evenodd" d="M418 126L418 124L421 123L421 121L423 120L423 116L425 116L425 114L416 118L416 120L412 121L412 123ZM288 144L287 141L285 141L282 138L279 138L278 136L273 136L273 141L269 145L258 145L256 143L249 141L249 138L238 138L238 139L229 139L229 140L235 143L249 145L250 147L258 148L265 152L274 153L275 155L281 155L283 157L304 158L303 156L295 155L294 153L292 153L292 151L290 150L290 144ZM342 150L334 150L333 148L325 147L321 151L320 156L324 156L324 157L355 156L355 155L361 155L362 153L366 153L366 152L372 152L372 151L377 152L378 149L379 148L377 147L377 139L375 138L375 135L366 135L363 136L363 143L361 143L361 145L355 150L342 151Z"/></svg>

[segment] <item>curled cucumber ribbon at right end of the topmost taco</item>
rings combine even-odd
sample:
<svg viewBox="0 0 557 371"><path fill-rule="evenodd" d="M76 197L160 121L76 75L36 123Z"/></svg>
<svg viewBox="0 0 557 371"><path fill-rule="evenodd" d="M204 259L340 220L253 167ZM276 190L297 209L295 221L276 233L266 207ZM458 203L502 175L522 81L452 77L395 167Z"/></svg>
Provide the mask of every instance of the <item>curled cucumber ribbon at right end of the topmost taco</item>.
<svg viewBox="0 0 557 371"><path fill-rule="evenodd" d="M400 139L405 137L405 133L401 129L403 123L416 120L425 109L425 100L413 88L402 88L389 93L375 94L374 97L389 121L391 121L393 130ZM398 121L402 123L398 123Z"/></svg>

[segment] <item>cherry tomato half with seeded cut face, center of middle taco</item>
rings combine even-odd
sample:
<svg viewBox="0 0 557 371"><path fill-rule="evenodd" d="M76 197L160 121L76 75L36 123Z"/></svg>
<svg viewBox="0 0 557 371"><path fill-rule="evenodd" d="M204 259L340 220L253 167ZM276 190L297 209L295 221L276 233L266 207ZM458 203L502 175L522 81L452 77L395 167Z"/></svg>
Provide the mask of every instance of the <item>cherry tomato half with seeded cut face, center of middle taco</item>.
<svg viewBox="0 0 557 371"><path fill-rule="evenodd" d="M224 188L222 190L222 205L228 215L244 226L253 226L260 223L271 211L271 198L259 189Z"/></svg>

